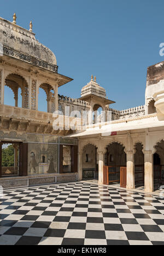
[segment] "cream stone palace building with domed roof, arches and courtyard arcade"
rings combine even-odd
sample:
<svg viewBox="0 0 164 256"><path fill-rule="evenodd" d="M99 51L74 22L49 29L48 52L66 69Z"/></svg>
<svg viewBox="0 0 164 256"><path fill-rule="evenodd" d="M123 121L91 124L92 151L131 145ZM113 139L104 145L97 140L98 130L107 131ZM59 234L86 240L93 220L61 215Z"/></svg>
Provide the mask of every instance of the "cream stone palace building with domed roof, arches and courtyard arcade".
<svg viewBox="0 0 164 256"><path fill-rule="evenodd" d="M32 22L26 30L15 14L13 22L0 18L0 43L0 186L97 179L153 192L164 185L164 61L148 67L145 105L119 111L93 76L80 98L58 94L72 78L58 73L54 53L36 39ZM14 106L4 104L5 87ZM39 88L47 112L38 110ZM57 120L63 129L54 129Z"/></svg>

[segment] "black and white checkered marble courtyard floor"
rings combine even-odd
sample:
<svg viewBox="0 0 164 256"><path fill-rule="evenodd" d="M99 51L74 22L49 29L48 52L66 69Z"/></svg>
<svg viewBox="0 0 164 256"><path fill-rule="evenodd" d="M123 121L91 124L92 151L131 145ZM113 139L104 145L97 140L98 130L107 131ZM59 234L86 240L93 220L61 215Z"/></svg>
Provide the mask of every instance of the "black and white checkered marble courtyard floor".
<svg viewBox="0 0 164 256"><path fill-rule="evenodd" d="M84 183L5 191L1 244L164 244L164 199Z"/></svg>

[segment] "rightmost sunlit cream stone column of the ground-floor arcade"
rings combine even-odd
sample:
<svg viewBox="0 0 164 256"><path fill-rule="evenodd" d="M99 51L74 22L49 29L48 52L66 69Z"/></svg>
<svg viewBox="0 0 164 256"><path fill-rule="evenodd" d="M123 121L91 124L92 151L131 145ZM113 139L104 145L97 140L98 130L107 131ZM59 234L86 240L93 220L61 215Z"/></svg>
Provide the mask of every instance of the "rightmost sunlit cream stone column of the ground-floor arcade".
<svg viewBox="0 0 164 256"><path fill-rule="evenodd" d="M145 191L154 191L154 168L153 168L153 153L151 150L144 151L145 160Z"/></svg>

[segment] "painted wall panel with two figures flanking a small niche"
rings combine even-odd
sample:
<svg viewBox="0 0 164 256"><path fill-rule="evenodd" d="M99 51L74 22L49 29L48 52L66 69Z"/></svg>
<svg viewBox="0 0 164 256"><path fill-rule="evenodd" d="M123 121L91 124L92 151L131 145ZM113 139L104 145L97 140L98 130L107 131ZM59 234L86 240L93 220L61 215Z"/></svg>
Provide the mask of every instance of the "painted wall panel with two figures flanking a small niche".
<svg viewBox="0 0 164 256"><path fill-rule="evenodd" d="M28 175L58 172L58 145L28 144Z"/></svg>

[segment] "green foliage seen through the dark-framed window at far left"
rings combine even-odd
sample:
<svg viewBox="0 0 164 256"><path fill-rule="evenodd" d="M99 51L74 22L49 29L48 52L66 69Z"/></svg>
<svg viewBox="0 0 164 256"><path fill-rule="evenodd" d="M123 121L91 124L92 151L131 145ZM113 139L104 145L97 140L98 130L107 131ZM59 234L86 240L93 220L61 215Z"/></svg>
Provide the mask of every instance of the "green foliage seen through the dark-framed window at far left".
<svg viewBox="0 0 164 256"><path fill-rule="evenodd" d="M5 149L2 149L2 167L14 166L14 147L9 145Z"/></svg>

